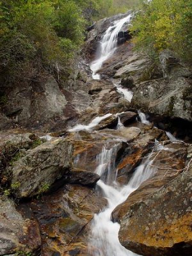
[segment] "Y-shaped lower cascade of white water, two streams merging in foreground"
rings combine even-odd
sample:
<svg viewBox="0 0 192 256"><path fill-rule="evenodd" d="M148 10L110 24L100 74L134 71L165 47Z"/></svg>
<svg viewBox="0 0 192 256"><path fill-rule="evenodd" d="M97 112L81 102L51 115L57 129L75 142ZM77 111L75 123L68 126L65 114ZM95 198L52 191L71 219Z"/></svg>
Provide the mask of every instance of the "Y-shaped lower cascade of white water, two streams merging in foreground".
<svg viewBox="0 0 192 256"><path fill-rule="evenodd" d="M126 250L118 240L120 225L111 221L111 213L119 204L136 190L143 181L152 177L156 170L152 164L152 154L143 161L134 171L131 180L126 186L116 182L115 157L113 149L103 148L99 156L99 166L95 171L101 175L97 182L97 189L108 200L108 206L99 214L95 214L92 223L88 255L91 256L134 256L135 253ZM110 169L110 170L109 170Z"/></svg>

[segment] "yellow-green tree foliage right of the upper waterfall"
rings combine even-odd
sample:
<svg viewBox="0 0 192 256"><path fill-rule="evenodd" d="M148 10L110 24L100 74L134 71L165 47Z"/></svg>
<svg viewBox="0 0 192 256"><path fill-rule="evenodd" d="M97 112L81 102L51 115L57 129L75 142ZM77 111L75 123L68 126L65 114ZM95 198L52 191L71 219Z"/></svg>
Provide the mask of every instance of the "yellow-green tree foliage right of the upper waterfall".
<svg viewBox="0 0 192 256"><path fill-rule="evenodd" d="M192 62L191 0L141 1L142 8L132 21L136 48L153 58L163 49L177 52Z"/></svg>

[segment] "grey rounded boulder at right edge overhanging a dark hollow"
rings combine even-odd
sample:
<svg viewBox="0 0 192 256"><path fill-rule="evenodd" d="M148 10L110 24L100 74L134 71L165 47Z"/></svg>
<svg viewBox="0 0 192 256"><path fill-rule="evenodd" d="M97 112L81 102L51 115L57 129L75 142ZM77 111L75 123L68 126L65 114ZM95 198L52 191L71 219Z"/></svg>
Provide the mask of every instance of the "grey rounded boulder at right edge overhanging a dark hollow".
<svg viewBox="0 0 192 256"><path fill-rule="evenodd" d="M186 78L157 79L143 82L134 89L133 108L148 113L192 120L191 82Z"/></svg>

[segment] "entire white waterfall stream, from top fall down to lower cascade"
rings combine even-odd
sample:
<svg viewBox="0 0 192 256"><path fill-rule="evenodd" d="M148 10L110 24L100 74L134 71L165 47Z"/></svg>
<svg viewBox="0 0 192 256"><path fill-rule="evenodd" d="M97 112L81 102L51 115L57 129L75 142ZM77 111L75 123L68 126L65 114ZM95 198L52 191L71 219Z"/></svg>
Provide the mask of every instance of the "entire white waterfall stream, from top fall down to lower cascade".
<svg viewBox="0 0 192 256"><path fill-rule="evenodd" d="M131 14L121 20L114 22L113 26L110 26L100 41L99 49L97 51L97 60L93 61L90 68L93 72L93 79L100 79L100 75L97 71L102 67L104 61L106 61L116 50L118 32L124 26L125 23L129 24L131 20ZM131 102L132 92L122 88L119 81L114 81L114 84L119 93L123 93L126 100ZM70 131L91 131L100 120L110 116L98 116L95 118L90 125L76 125ZM145 116L140 114L141 122L145 119ZM147 122L147 121L146 121ZM119 122L117 128L121 128L122 124ZM107 142L106 142L107 146ZM116 182L117 170L115 167L115 157L118 150L118 144L113 148L103 147L100 152L97 162L98 166L95 173L100 175L100 180L97 182L96 190L104 198L108 200L108 205L99 214L95 214L89 241L88 241L88 255L90 256L134 256L135 253L126 250L118 240L118 231L120 225L111 221L111 213L119 205L122 204L127 197L136 190L140 184L152 177L155 170L150 167L152 163L152 153L148 155L147 159L136 168L134 174L129 180L129 183L125 186L120 186Z"/></svg>

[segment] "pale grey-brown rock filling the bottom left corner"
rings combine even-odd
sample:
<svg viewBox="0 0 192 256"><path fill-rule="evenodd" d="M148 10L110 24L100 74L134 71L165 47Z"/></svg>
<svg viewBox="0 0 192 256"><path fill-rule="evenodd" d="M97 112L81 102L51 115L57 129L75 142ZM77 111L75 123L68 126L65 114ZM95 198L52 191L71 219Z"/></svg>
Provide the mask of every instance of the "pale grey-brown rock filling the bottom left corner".
<svg viewBox="0 0 192 256"><path fill-rule="evenodd" d="M26 207L24 207L26 209ZM12 200L0 198L0 255L40 253L41 237L33 212L18 211Z"/></svg>

